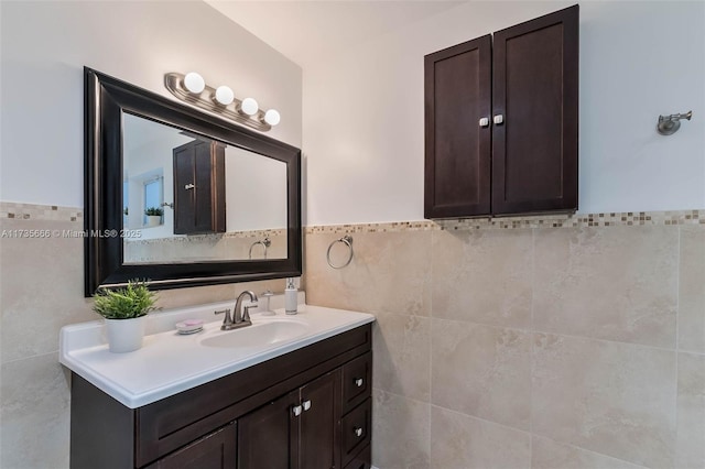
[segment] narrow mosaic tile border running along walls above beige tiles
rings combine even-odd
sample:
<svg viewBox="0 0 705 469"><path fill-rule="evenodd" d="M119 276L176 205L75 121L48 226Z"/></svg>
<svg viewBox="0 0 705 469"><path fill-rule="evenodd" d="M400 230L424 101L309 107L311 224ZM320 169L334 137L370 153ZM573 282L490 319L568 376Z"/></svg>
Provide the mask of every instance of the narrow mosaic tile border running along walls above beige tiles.
<svg viewBox="0 0 705 469"><path fill-rule="evenodd" d="M59 220L83 222L83 209L55 205L0 201L0 219ZM306 234L394 232L459 229L518 229L562 227L705 225L705 210L622 211L609 214L534 215L502 218L459 218L452 220L393 221L386 223L350 223L310 226ZM228 237L261 237L283 234L284 230L262 230L228 233ZM175 239L175 238L174 238Z"/></svg>

